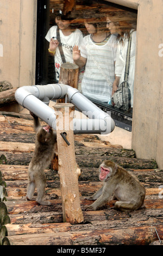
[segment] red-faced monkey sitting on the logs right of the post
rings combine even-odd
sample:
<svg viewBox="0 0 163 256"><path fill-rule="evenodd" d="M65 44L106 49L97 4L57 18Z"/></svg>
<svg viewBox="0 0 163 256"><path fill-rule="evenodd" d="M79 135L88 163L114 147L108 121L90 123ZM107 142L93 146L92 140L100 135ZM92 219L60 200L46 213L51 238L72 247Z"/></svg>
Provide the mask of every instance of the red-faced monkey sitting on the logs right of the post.
<svg viewBox="0 0 163 256"><path fill-rule="evenodd" d="M93 196L87 198L96 200L87 206L86 210L96 210L108 201L116 198L114 209L130 212L141 208L145 200L146 190L139 180L127 170L112 161L103 161L99 166L99 179L104 185Z"/></svg>

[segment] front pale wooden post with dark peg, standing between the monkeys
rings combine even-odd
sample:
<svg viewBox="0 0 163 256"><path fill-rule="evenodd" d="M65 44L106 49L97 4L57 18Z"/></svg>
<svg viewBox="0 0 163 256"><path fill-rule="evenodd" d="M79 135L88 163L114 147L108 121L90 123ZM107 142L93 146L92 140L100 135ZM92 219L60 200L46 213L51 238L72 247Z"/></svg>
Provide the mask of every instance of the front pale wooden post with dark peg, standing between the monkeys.
<svg viewBox="0 0 163 256"><path fill-rule="evenodd" d="M80 208L77 163L74 149L73 111L71 103L54 106L57 117L57 144L59 176L64 222L72 224L84 221ZM71 127L72 126L72 127ZM64 140L64 137L67 141Z"/></svg>

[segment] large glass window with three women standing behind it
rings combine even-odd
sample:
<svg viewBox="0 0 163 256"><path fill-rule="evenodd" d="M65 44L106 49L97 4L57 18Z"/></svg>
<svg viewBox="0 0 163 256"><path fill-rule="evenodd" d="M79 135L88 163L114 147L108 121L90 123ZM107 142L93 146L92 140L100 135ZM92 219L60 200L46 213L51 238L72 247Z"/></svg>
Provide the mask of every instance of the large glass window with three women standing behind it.
<svg viewBox="0 0 163 256"><path fill-rule="evenodd" d="M80 68L78 89L115 118L121 116L120 123L125 119L124 129L130 130L137 11L108 1L43 2L38 1L36 83L58 82L64 61L58 27L65 61Z"/></svg>

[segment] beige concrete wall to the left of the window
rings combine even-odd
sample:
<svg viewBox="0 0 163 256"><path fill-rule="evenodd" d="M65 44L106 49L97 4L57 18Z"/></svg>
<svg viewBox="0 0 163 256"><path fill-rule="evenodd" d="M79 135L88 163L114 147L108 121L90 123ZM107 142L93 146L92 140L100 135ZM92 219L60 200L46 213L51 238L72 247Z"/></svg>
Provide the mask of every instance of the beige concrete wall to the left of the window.
<svg viewBox="0 0 163 256"><path fill-rule="evenodd" d="M36 0L1 0L0 81L13 87L35 83Z"/></svg>

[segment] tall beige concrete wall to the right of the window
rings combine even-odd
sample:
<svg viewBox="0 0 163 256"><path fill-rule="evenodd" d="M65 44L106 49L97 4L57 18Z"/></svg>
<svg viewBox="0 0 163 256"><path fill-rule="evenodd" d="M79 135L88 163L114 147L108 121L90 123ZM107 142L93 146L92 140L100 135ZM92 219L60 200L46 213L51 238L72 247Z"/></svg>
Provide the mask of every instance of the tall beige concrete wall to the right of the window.
<svg viewBox="0 0 163 256"><path fill-rule="evenodd" d="M132 148L163 168L163 0L108 0L137 9Z"/></svg>

